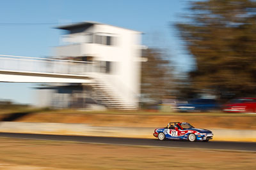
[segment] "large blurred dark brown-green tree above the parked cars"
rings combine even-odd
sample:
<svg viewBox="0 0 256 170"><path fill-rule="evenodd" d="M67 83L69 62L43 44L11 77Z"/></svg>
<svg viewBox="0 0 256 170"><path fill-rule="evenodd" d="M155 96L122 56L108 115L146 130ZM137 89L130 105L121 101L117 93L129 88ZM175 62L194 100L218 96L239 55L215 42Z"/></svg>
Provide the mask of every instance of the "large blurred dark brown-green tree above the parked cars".
<svg viewBox="0 0 256 170"><path fill-rule="evenodd" d="M250 0L191 1L180 36L195 58L191 87L225 94L256 92L256 2Z"/></svg>

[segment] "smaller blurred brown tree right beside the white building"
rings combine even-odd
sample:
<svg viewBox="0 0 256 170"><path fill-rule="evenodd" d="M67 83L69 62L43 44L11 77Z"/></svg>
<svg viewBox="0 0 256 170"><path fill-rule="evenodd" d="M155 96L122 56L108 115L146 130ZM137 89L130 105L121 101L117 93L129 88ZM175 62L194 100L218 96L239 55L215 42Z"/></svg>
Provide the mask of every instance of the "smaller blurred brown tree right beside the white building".
<svg viewBox="0 0 256 170"><path fill-rule="evenodd" d="M141 96L160 101L172 94L172 66L166 52L159 48L143 50L147 62L141 64Z"/></svg>

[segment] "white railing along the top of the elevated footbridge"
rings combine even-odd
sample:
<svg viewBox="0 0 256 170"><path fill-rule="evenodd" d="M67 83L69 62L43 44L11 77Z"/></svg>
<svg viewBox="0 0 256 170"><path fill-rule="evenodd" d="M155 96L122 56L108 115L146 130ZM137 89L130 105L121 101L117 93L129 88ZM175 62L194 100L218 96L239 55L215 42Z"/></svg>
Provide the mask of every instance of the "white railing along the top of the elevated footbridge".
<svg viewBox="0 0 256 170"><path fill-rule="evenodd" d="M0 55L0 70L73 75L86 75L95 72L93 62L17 55Z"/></svg>

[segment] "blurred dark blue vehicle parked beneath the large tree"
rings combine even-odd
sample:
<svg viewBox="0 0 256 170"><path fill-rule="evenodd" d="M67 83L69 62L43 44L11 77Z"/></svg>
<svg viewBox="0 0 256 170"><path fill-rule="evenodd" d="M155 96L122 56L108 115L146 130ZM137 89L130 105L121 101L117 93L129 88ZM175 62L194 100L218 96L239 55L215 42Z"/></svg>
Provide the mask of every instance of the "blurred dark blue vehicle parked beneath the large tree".
<svg viewBox="0 0 256 170"><path fill-rule="evenodd" d="M214 111L220 110L220 104L215 99L190 99L187 103L177 103L176 110L184 111Z"/></svg>

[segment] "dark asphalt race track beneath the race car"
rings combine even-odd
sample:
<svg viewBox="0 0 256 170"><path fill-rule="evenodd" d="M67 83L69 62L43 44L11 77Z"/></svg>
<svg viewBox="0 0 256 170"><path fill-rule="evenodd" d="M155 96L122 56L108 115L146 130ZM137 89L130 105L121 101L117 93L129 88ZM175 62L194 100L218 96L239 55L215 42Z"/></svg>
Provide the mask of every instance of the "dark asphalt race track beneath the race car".
<svg viewBox="0 0 256 170"><path fill-rule="evenodd" d="M49 134L19 134L0 132L1 137L22 138L22 139L44 139L56 141L77 141L84 143L105 143L111 145L140 145L140 146L160 146L170 148L198 148L214 150L239 150L256 152L256 143L253 142L229 142L229 141L209 141L209 142L188 142L188 141L159 141L157 139L138 138L111 138L95 136L64 136Z"/></svg>

